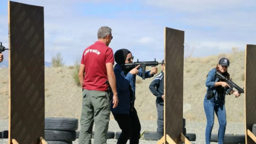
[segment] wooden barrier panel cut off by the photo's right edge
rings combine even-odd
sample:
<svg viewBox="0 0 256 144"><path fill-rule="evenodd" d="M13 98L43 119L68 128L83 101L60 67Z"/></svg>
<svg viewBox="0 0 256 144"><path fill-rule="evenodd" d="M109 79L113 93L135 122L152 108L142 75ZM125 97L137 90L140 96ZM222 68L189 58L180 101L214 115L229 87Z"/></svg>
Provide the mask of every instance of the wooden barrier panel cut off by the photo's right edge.
<svg viewBox="0 0 256 144"><path fill-rule="evenodd" d="M245 73L244 73L244 117L246 144L255 144L256 136L252 133L252 126L256 124L256 45L247 44L245 51Z"/></svg>

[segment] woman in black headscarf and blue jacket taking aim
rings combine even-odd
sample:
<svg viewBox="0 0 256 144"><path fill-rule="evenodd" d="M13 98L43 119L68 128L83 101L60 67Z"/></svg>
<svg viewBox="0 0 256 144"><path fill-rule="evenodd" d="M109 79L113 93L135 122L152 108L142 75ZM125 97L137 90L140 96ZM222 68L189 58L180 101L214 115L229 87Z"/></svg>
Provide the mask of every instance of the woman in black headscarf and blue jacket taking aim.
<svg viewBox="0 0 256 144"><path fill-rule="evenodd" d="M130 144L138 144L140 139L140 120L134 107L136 75L142 77L140 65L125 67L122 64L132 63L132 53L127 49L119 49L114 54L114 73L116 77L116 88L118 93L118 106L113 108L111 102L111 112L118 123L121 134L117 144L126 144L130 138ZM151 71L145 71L145 78L151 78L157 73L157 67L152 67ZM111 94L113 96L113 94Z"/></svg>

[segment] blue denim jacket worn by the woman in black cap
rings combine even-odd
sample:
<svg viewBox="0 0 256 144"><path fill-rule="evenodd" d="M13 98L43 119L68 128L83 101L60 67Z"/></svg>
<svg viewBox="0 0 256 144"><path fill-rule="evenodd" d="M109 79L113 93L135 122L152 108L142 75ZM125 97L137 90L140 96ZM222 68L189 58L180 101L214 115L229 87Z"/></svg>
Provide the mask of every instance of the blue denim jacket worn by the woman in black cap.
<svg viewBox="0 0 256 144"><path fill-rule="evenodd" d="M216 91L216 87L214 87L214 84L219 80L218 77L215 77L216 71L217 71L216 68L211 69L209 71L208 77L206 78L206 81L205 81L205 86L207 87L207 91L211 91L211 90L213 91L215 100L218 99L218 93ZM225 93L227 92L228 89L229 89L229 87L224 88ZM224 100L225 100L225 96L226 96L226 94L224 95Z"/></svg>

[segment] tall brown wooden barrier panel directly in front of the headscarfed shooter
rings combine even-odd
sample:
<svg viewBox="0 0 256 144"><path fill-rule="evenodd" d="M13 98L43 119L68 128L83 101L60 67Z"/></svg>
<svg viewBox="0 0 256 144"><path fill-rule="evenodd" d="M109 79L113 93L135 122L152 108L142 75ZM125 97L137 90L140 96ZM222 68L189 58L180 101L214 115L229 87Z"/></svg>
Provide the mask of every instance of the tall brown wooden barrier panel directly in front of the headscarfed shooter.
<svg viewBox="0 0 256 144"><path fill-rule="evenodd" d="M164 41L164 136L157 144L191 144L183 135L182 123L184 31L165 27Z"/></svg>

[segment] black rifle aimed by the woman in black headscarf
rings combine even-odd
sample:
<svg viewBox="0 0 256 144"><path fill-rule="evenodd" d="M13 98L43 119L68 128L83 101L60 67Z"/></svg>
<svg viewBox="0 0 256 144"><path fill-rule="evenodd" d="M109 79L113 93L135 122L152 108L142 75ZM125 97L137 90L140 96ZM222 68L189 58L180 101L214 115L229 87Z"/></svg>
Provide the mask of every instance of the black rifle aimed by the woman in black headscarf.
<svg viewBox="0 0 256 144"><path fill-rule="evenodd" d="M125 67L136 67L138 65L140 65L140 67L142 68L142 79L145 79L145 70L146 70L146 66L157 66L160 64L165 64L164 62L157 62L156 60L154 61L138 61L137 62L133 62L131 64L122 64L125 65Z"/></svg>

